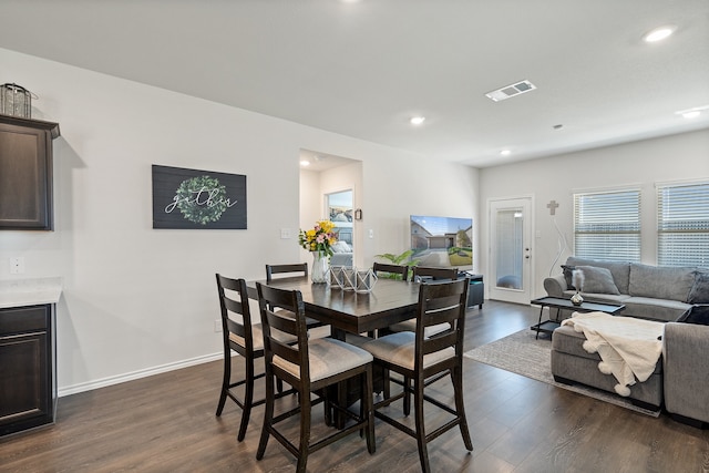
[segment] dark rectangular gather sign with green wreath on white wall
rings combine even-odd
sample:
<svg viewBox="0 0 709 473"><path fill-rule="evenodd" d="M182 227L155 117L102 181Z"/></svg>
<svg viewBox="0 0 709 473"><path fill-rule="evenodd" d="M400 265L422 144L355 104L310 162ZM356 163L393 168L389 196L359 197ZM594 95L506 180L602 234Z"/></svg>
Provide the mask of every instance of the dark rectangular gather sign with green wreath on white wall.
<svg viewBox="0 0 709 473"><path fill-rule="evenodd" d="M154 164L153 228L246 229L246 176Z"/></svg>

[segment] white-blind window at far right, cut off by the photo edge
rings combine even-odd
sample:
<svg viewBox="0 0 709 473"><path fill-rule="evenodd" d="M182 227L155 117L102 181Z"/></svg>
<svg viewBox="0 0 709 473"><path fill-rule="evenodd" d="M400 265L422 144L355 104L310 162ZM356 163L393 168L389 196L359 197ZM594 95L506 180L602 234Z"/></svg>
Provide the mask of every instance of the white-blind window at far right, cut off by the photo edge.
<svg viewBox="0 0 709 473"><path fill-rule="evenodd" d="M657 186L657 264L709 267L709 182Z"/></svg>

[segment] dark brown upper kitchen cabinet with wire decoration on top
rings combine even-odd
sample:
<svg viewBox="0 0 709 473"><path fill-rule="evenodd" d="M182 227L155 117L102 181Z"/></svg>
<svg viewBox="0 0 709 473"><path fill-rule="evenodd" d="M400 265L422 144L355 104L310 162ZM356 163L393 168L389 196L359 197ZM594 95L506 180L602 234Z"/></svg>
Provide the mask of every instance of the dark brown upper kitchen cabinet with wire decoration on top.
<svg viewBox="0 0 709 473"><path fill-rule="evenodd" d="M0 114L0 229L51 230L59 124Z"/></svg>

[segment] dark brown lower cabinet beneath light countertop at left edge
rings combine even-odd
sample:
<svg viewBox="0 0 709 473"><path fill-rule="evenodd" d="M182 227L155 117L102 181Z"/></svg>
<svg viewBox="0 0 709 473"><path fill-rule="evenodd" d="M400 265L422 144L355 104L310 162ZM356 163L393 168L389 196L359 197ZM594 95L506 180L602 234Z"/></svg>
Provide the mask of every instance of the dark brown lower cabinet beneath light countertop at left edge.
<svg viewBox="0 0 709 473"><path fill-rule="evenodd" d="M0 435L53 423L54 306L0 309Z"/></svg>

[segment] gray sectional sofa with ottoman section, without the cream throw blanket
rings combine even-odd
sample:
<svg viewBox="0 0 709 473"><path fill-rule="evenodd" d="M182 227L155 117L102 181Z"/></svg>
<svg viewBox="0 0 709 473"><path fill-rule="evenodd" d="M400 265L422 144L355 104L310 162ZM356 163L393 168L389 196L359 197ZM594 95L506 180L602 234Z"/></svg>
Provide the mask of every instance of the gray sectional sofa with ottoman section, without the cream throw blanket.
<svg viewBox="0 0 709 473"><path fill-rule="evenodd" d="M618 316L667 322L662 359L647 381L633 387L630 400L649 409L665 405L682 422L709 424L709 363L705 361L709 327L695 325L709 323L709 269L576 257L569 257L562 268L562 274L544 280L548 296L571 298L576 292L572 271L582 269L584 300L624 304L626 308ZM687 317L692 313L705 316ZM552 337L552 373L557 381L615 392L615 380L598 370L600 358L586 352L584 341L584 335L569 326L556 329Z"/></svg>

